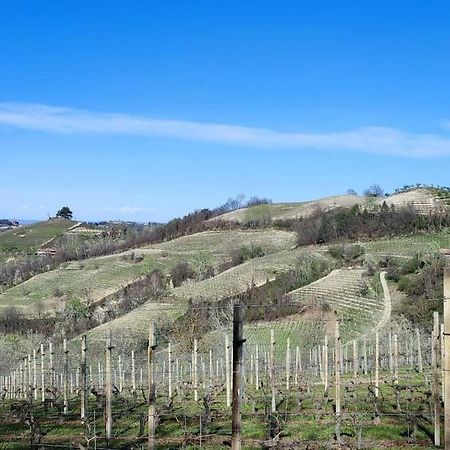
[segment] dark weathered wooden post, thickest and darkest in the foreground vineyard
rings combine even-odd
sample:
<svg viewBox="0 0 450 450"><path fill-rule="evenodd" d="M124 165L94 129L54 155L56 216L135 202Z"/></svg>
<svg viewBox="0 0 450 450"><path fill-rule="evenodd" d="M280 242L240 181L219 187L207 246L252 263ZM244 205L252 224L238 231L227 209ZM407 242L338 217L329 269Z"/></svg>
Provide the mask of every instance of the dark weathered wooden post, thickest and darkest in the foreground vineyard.
<svg viewBox="0 0 450 450"><path fill-rule="evenodd" d="M231 413L231 448L241 449L242 359L243 359L243 308L233 308L233 408Z"/></svg>

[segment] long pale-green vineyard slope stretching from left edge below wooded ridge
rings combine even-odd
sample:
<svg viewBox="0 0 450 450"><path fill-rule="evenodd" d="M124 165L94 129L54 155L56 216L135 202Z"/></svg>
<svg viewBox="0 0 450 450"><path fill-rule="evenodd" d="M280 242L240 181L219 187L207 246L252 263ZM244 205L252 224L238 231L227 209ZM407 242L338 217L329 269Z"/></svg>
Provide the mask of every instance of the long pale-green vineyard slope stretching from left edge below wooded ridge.
<svg viewBox="0 0 450 450"><path fill-rule="evenodd" d="M267 253L286 250L295 243L295 235L285 231L209 231L170 242L135 250L142 260L127 256L133 250L84 261L63 264L58 269L38 274L0 295L0 308L15 306L23 314L36 309L54 312L69 298L99 302L154 269L167 274L180 261L193 265L207 259L213 267L231 259L243 245L261 245ZM203 255L200 255L203 251Z"/></svg>

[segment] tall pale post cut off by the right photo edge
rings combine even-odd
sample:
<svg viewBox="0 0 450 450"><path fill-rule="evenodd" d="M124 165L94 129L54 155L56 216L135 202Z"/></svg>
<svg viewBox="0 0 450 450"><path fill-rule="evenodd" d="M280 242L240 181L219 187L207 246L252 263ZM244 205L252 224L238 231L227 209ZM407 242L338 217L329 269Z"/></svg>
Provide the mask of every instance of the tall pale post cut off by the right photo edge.
<svg viewBox="0 0 450 450"><path fill-rule="evenodd" d="M450 250L444 252L447 267L444 269L444 448L450 450Z"/></svg>

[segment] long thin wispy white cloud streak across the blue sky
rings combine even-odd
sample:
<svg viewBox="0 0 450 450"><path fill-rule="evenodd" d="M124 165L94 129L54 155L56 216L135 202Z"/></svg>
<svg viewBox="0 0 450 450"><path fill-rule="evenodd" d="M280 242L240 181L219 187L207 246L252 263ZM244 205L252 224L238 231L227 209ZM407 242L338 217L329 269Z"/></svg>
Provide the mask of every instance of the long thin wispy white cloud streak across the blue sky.
<svg viewBox="0 0 450 450"><path fill-rule="evenodd" d="M23 103L0 103L0 124L49 133L160 136L272 149L351 150L416 157L450 155L448 136L377 126L331 133L287 133Z"/></svg>

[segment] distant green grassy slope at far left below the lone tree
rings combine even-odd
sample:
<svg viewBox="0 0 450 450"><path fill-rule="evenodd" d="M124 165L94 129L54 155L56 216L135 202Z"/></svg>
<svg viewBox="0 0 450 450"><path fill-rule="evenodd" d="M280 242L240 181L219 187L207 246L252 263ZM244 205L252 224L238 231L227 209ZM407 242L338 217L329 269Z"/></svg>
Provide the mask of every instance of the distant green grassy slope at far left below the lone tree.
<svg viewBox="0 0 450 450"><path fill-rule="evenodd" d="M0 262L17 254L33 254L47 241L64 234L77 222L46 220L0 233Z"/></svg>

